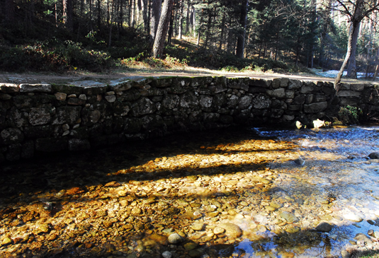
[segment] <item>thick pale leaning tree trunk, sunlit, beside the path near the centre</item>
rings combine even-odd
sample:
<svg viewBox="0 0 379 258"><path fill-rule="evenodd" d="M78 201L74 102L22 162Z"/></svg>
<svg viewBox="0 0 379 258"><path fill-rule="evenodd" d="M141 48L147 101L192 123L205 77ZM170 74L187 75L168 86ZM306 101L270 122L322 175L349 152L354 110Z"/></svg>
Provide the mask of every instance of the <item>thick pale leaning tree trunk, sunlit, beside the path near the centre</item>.
<svg viewBox="0 0 379 258"><path fill-rule="evenodd" d="M154 58L161 58L166 40L167 30L169 30L169 22L172 16L172 8L174 0L165 0L162 8L162 14L159 18L157 34L155 35L154 45L152 47L152 55Z"/></svg>

